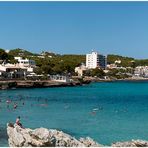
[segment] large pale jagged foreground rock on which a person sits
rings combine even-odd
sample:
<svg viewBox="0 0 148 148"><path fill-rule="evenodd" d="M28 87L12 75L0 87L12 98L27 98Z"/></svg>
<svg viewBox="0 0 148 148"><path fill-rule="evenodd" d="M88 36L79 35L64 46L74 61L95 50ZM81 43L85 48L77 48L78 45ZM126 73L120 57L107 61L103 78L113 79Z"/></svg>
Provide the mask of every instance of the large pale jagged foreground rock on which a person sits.
<svg viewBox="0 0 148 148"><path fill-rule="evenodd" d="M21 128L16 124L7 124L8 143L10 147L89 147L102 146L93 139L76 138L58 130Z"/></svg>

